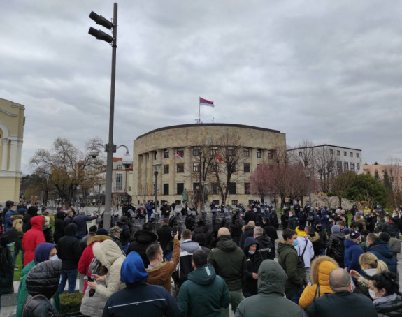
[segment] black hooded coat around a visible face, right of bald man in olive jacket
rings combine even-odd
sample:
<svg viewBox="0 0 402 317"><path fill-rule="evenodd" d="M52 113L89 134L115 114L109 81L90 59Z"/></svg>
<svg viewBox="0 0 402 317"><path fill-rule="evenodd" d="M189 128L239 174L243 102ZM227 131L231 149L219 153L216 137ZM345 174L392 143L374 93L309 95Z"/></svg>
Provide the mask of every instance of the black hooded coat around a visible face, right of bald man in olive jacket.
<svg viewBox="0 0 402 317"><path fill-rule="evenodd" d="M257 244L257 249L254 254L250 254L248 249L252 244ZM259 251L259 244L254 237L248 237L245 239L243 252L245 254L245 263L247 265L247 279L245 281L245 287L243 291L245 293L250 293L252 295L257 294L257 279L252 278L253 273L257 273L259 269L259 265L261 265L262 258L261 253Z"/></svg>

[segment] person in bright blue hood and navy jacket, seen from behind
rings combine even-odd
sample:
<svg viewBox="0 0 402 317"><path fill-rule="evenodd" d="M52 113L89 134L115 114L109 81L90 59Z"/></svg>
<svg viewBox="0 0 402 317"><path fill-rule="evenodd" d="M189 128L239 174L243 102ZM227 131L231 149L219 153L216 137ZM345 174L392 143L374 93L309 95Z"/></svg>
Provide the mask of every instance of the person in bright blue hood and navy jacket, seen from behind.
<svg viewBox="0 0 402 317"><path fill-rule="evenodd" d="M178 317L180 310L173 297L161 286L146 283L141 256L132 251L122 264L120 281L126 287L111 295L103 309L103 317L152 316Z"/></svg>

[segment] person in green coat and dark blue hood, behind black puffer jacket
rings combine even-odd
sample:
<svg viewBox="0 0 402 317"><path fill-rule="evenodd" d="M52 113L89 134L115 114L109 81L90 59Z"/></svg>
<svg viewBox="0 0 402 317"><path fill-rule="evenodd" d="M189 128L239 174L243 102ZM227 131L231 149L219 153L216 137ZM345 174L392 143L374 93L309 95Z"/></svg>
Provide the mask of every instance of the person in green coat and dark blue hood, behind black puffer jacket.
<svg viewBox="0 0 402 317"><path fill-rule="evenodd" d="M22 316L22 307L24 307L24 302L27 299L29 293L27 290L27 274L31 270L32 267L37 265L38 263L42 263L47 260L57 260L57 249L56 244L52 243L41 243L38 244L35 250L35 258L31 262L29 262L21 271L21 281L20 286L18 287L18 295L17 295L17 312L15 313L16 317ZM60 312L60 297L59 293L55 293L53 298L53 307Z"/></svg>

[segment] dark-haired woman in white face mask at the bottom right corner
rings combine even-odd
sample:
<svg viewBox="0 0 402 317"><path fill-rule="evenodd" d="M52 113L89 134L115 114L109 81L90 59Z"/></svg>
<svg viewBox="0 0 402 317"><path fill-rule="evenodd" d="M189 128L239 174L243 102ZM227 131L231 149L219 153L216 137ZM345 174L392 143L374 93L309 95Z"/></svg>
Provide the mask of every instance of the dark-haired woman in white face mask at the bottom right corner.
<svg viewBox="0 0 402 317"><path fill-rule="evenodd" d="M374 300L373 304L378 316L402 316L402 297L395 274L381 272L368 277L368 293Z"/></svg>

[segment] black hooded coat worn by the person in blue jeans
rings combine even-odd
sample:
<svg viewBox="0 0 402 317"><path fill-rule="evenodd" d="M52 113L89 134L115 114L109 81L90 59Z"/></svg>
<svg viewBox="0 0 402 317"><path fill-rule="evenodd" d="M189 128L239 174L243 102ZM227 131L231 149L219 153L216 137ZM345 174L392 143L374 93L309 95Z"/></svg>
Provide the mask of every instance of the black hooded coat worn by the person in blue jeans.
<svg viewBox="0 0 402 317"><path fill-rule="evenodd" d="M63 261L63 270L73 270L81 257L80 242L76 238L77 225L70 223L66 235L57 242L57 256ZM27 235L27 234L25 234Z"/></svg>

